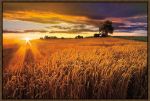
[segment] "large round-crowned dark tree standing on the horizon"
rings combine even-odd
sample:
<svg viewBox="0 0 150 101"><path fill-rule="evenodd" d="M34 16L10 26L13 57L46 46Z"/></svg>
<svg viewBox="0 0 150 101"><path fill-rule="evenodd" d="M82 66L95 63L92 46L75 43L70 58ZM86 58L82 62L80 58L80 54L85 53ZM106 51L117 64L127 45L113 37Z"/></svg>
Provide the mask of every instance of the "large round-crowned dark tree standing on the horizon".
<svg viewBox="0 0 150 101"><path fill-rule="evenodd" d="M113 34L114 27L112 26L112 22L107 20L99 27L99 32L101 32L102 37L107 37L108 33Z"/></svg>

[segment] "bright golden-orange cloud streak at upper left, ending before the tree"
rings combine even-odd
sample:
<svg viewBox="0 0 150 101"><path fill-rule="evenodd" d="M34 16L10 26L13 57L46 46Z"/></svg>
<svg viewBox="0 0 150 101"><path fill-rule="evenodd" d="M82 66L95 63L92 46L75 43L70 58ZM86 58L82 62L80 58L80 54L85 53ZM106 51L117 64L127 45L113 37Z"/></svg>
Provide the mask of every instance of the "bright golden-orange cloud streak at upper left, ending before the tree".
<svg viewBox="0 0 150 101"><path fill-rule="evenodd" d="M89 20L85 16L62 15L53 12L37 12L37 11L15 11L4 12L4 19L33 21L39 23L57 24L61 22L84 23Z"/></svg>

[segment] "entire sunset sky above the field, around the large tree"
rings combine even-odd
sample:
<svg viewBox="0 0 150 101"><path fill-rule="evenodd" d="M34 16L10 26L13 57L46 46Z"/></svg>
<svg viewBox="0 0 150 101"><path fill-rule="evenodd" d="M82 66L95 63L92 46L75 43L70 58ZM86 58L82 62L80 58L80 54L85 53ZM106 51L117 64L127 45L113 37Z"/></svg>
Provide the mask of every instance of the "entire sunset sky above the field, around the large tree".
<svg viewBox="0 0 150 101"><path fill-rule="evenodd" d="M92 36L106 20L112 21L114 36L147 36L146 3L3 3L6 36Z"/></svg>

